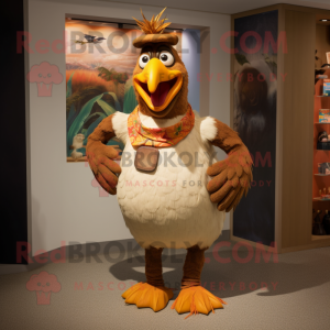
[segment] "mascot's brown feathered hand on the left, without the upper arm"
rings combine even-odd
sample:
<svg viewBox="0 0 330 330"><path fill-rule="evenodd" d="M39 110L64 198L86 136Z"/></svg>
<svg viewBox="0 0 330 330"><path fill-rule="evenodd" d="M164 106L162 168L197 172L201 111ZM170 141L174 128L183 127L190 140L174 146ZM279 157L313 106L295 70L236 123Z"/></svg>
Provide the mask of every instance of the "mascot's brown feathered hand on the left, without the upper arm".
<svg viewBox="0 0 330 330"><path fill-rule="evenodd" d="M105 145L101 141L88 141L87 160L89 166L102 188L111 195L117 194L118 176L121 173L120 166L113 161L118 158L118 151Z"/></svg>

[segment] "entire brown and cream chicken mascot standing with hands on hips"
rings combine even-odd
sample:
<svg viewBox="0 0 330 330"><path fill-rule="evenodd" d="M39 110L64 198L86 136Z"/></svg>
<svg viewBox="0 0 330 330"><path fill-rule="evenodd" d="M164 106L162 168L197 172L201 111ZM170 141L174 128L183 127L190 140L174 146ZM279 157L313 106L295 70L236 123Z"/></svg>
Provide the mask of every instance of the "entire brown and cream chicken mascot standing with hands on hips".
<svg viewBox="0 0 330 330"><path fill-rule="evenodd" d="M164 11L164 10L163 10ZM188 103L188 74L173 47L178 37L164 33L163 11L136 23L144 32L133 41L141 55L133 72L138 107L116 112L88 138L87 157L95 177L118 196L127 227L145 249L144 283L129 288L127 304L158 311L173 298L162 272L164 248L186 249L178 314L209 314L223 308L200 285L205 251L221 234L224 215L248 193L252 160L238 133L215 118L200 118ZM107 145L117 136L118 152ZM213 146L228 157L218 162Z"/></svg>

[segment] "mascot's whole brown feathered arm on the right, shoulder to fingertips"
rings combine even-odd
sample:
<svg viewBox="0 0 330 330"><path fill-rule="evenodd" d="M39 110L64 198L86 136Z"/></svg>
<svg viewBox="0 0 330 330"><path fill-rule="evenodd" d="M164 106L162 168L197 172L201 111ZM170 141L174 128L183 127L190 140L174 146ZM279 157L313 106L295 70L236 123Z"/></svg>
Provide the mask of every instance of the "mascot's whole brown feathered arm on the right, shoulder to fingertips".
<svg viewBox="0 0 330 330"><path fill-rule="evenodd" d="M228 158L208 168L207 173L212 179L207 189L211 201L218 204L218 210L229 212L238 206L243 194L248 194L253 163L239 134L219 120L215 121L217 135L210 143L222 148Z"/></svg>

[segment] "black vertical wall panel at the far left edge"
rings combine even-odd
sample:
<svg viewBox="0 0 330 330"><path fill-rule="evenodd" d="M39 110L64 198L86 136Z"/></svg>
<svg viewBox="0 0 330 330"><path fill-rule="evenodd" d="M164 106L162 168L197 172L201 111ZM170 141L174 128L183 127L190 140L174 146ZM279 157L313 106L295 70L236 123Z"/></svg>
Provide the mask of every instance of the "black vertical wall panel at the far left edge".
<svg viewBox="0 0 330 330"><path fill-rule="evenodd" d="M16 242L28 241L24 54L16 54L23 0L6 2L1 16L0 263L15 264Z"/></svg>

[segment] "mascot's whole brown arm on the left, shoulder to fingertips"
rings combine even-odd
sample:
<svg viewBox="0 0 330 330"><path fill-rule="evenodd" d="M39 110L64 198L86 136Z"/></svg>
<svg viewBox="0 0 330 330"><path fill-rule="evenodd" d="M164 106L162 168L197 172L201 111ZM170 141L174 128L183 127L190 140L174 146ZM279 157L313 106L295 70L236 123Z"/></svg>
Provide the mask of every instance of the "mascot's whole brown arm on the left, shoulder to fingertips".
<svg viewBox="0 0 330 330"><path fill-rule="evenodd" d="M95 131L88 136L86 146L87 160L89 166L102 188L111 195L117 194L118 177L121 173L120 166L113 162L118 157L114 147L106 145L108 141L116 136L112 127L111 114L105 118Z"/></svg>

